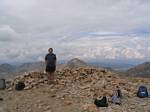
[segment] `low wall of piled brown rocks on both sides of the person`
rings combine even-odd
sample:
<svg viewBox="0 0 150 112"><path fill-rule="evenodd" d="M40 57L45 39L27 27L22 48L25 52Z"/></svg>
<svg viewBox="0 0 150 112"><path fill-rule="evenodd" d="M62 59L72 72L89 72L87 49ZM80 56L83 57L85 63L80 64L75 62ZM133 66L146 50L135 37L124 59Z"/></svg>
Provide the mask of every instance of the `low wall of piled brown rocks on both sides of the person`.
<svg viewBox="0 0 150 112"><path fill-rule="evenodd" d="M18 81L25 83L25 89L48 84L46 73L42 72L31 72L15 77L11 81L11 89L14 88ZM124 95L132 97L135 96L138 82L133 83L125 77L120 78L117 74L108 70L94 68L63 69L56 71L56 84L54 88L61 90L60 93L57 92L57 95L60 97L95 98L103 94L112 96L116 86L121 87Z"/></svg>

